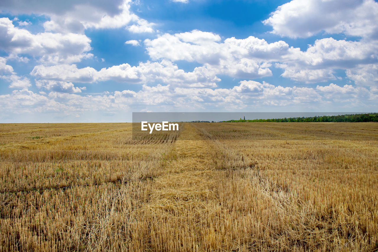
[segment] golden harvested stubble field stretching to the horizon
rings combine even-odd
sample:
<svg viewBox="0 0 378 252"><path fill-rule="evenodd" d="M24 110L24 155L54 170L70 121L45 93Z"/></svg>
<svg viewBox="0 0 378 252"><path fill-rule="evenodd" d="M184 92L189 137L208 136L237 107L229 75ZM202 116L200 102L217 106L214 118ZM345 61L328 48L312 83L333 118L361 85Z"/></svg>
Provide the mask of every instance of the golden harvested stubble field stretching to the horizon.
<svg viewBox="0 0 378 252"><path fill-rule="evenodd" d="M378 124L0 124L0 250L377 251Z"/></svg>

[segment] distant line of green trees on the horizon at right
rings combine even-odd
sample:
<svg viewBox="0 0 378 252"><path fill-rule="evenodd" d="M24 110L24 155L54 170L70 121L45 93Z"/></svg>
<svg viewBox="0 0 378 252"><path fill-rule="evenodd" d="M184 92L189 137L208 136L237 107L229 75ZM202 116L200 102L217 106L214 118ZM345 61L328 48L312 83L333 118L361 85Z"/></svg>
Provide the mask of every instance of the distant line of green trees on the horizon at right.
<svg viewBox="0 0 378 252"><path fill-rule="evenodd" d="M244 117L245 118L245 117ZM369 113L369 114L350 114L350 115L323 115L323 116L316 116L316 117L290 117L290 118L277 118L277 119L255 119L255 120L229 120L229 121L222 121L222 123L239 123L239 122L248 122L248 123L256 123L256 122L276 122L276 123L291 123L291 122L378 122L378 114L377 113Z"/></svg>

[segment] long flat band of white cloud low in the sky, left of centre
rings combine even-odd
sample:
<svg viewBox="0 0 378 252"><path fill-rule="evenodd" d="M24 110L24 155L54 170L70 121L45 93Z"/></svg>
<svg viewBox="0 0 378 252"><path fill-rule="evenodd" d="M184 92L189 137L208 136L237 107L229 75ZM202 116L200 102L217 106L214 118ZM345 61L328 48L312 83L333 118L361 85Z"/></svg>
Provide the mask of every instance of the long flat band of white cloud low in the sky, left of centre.
<svg viewBox="0 0 378 252"><path fill-rule="evenodd" d="M216 87L219 78L206 67L197 67L193 72L184 72L170 61L141 62L138 66L127 63L102 68L77 68L76 65L37 65L31 75L38 79L65 82L97 82L113 80L126 83L162 81L172 86Z"/></svg>

